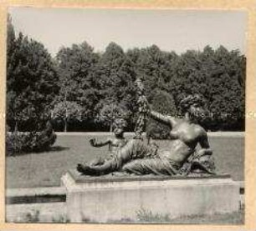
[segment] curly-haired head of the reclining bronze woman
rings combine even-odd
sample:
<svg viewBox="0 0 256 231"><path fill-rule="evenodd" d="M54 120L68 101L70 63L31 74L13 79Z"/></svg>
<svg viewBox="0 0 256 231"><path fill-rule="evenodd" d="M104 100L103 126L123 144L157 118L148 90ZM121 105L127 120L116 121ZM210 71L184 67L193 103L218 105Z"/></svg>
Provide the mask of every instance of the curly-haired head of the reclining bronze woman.
<svg viewBox="0 0 256 231"><path fill-rule="evenodd" d="M203 99L199 94L188 95L180 102L182 113L185 114L185 117L197 123L206 116L203 104Z"/></svg>

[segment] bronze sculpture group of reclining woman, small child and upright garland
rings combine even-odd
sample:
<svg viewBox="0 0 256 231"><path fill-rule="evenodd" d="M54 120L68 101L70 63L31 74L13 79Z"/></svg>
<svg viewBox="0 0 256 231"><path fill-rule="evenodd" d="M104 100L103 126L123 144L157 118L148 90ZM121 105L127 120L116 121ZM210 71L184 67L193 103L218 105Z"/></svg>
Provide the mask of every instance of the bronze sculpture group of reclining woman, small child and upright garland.
<svg viewBox="0 0 256 231"><path fill-rule="evenodd" d="M95 147L109 144L110 155L105 159L78 164L77 170L85 175L103 175L114 172L133 173L136 175L177 175L188 173L214 174L215 166L212 149L209 146L207 132L197 122L203 116L202 100L198 95L190 95L180 102L184 112L183 118L174 118L151 110L143 95L143 86L137 83L141 91L141 108L136 124L136 137L124 138L125 122L115 121L115 138L105 143L90 143ZM140 98L139 98L140 101ZM141 139L142 127L146 117L171 128L170 141L165 149L153 144L146 144ZM201 147L197 151L197 145Z"/></svg>

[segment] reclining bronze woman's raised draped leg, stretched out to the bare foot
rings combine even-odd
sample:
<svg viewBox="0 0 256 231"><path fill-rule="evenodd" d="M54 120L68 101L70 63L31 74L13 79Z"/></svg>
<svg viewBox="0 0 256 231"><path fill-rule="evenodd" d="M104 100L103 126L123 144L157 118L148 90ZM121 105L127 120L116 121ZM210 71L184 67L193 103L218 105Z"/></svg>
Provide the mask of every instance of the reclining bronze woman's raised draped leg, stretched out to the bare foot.
<svg viewBox="0 0 256 231"><path fill-rule="evenodd" d="M150 152L144 143L140 140L130 140L123 148L120 148L116 155L106 160L102 165L88 165L88 164L79 164L77 170L80 173L88 175L100 175L112 173L120 170L120 168L131 159L143 158L147 153Z"/></svg>

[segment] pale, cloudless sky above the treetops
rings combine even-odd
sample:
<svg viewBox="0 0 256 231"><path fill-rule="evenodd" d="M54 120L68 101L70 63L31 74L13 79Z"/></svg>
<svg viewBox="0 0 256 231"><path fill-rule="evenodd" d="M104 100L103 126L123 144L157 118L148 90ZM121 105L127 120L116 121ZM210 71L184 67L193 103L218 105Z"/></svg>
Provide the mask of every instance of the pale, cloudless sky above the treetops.
<svg viewBox="0 0 256 231"><path fill-rule="evenodd" d="M84 41L97 52L110 42L124 50L156 44L176 53L206 45L246 51L243 11L9 8L9 13L16 33L43 43L53 56L61 46Z"/></svg>

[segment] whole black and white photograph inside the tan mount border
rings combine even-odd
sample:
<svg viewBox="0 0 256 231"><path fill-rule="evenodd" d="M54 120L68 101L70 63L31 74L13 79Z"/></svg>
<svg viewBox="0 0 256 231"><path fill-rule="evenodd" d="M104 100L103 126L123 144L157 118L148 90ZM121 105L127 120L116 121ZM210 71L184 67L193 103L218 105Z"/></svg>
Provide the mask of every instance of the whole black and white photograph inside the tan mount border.
<svg viewBox="0 0 256 231"><path fill-rule="evenodd" d="M5 222L244 224L248 13L8 8Z"/></svg>

